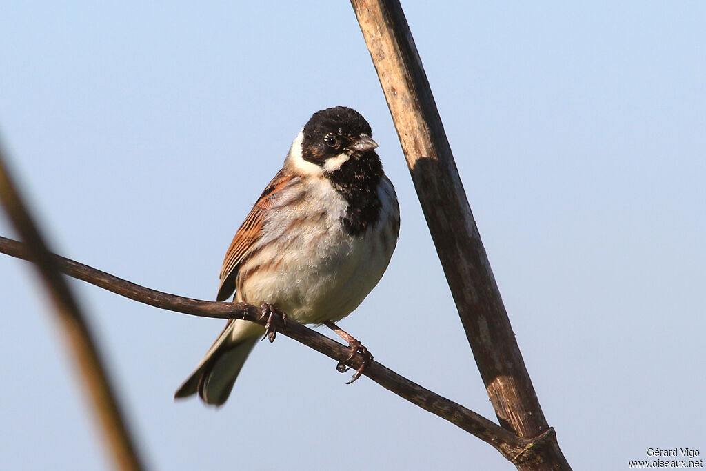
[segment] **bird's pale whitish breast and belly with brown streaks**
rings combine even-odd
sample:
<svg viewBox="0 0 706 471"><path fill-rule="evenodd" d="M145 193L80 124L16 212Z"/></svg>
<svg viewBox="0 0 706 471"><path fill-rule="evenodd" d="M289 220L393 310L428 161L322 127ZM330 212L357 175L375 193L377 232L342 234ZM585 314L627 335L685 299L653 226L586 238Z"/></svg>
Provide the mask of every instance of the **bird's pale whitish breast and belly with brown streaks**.
<svg viewBox="0 0 706 471"><path fill-rule="evenodd" d="M337 321L350 314L385 272L397 243L399 208L390 181L378 187L380 220L359 237L341 220L347 201L325 178L304 178L277 198L238 283L251 304L267 302L299 323ZM253 270L254 267L260 267Z"/></svg>

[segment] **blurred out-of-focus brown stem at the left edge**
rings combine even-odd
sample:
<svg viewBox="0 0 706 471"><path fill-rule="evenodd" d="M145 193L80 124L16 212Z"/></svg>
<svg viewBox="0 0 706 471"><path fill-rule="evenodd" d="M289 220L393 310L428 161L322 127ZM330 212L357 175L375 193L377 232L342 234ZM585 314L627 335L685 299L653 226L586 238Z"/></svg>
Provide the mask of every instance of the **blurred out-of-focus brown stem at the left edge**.
<svg viewBox="0 0 706 471"><path fill-rule="evenodd" d="M20 237L25 241L25 258L34 262L44 289L54 305L54 314L63 329L63 337L73 354L83 379L83 386L92 401L104 440L120 470L144 469L131 439L126 421L118 405L114 388L108 378L100 354L84 321L76 299L59 273L56 258L50 254L37 224L32 220L23 198L12 181L0 148L0 200Z"/></svg>

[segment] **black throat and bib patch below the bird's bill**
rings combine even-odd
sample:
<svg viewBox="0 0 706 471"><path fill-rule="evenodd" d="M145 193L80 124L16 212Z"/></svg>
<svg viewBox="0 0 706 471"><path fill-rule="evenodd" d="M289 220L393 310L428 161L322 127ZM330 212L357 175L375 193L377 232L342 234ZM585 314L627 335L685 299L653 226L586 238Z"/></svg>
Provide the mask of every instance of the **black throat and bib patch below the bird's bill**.
<svg viewBox="0 0 706 471"><path fill-rule="evenodd" d="M352 153L338 169L328 173L333 187L348 202L342 218L346 232L362 234L380 217L378 187L383 177L383 164L374 152Z"/></svg>

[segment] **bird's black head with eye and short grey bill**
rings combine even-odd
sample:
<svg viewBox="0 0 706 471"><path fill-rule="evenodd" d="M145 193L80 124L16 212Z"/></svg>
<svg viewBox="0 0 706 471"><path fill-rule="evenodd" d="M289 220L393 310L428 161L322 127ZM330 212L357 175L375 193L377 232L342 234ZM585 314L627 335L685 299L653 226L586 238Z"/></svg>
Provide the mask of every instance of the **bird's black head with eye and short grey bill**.
<svg viewBox="0 0 706 471"><path fill-rule="evenodd" d="M301 157L321 166L330 157L373 153L378 146L371 137L368 121L347 107L327 108L314 113L304 126L303 134Z"/></svg>

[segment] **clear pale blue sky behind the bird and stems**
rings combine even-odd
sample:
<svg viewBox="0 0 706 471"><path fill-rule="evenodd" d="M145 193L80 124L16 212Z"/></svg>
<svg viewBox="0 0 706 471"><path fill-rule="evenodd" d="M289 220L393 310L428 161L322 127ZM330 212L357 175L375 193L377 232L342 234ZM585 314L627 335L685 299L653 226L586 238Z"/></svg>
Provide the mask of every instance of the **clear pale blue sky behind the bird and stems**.
<svg viewBox="0 0 706 471"><path fill-rule="evenodd" d="M544 413L575 470L706 455L706 4L403 4ZM214 299L225 250L313 112L358 109L397 251L340 325L495 420L346 1L6 1L0 133L56 251ZM0 234L15 237L4 218ZM0 456L108 467L47 303L0 256ZM493 448L283 336L225 407L174 403L223 321L72 282L158 470L511 470Z"/></svg>

